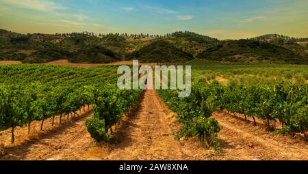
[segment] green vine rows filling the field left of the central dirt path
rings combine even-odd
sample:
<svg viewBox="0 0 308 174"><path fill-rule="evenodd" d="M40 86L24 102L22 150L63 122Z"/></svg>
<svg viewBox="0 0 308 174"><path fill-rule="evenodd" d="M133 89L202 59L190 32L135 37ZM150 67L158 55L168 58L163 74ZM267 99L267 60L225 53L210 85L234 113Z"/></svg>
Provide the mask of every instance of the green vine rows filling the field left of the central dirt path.
<svg viewBox="0 0 308 174"><path fill-rule="evenodd" d="M108 140L108 128L116 124L129 106L136 103L141 91L118 90L116 67L68 68L41 65L1 66L0 130L30 126L55 115L77 115L93 105L94 117L86 126L97 141ZM99 127L101 126L101 128ZM111 129L112 131L112 129ZM29 132L28 132L29 133ZM98 137L99 136L99 137Z"/></svg>

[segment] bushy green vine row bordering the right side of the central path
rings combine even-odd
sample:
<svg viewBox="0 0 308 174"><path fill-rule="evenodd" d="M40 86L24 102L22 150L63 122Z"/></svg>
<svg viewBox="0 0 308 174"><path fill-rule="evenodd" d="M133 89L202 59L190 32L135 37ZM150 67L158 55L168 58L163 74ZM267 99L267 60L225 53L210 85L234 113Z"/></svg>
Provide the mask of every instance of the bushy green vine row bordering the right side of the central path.
<svg viewBox="0 0 308 174"><path fill-rule="evenodd" d="M207 85L192 85L189 97L179 98L177 90L157 90L160 98L167 106L178 114L179 121L183 124L176 137L196 136L205 147L213 146L220 154L218 132L221 127L218 121L211 117L217 110L216 89Z"/></svg>

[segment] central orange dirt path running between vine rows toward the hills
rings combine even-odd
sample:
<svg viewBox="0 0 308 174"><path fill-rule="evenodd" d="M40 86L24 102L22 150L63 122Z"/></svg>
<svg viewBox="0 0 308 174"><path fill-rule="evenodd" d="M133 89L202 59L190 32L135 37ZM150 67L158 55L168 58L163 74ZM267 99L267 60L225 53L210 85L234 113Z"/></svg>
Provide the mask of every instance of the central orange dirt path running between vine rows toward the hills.
<svg viewBox="0 0 308 174"><path fill-rule="evenodd" d="M120 141L97 148L95 154L105 151L105 156L99 156L104 160L181 159L183 153L172 134L172 121L167 120L157 93L146 90L138 108L118 132Z"/></svg>

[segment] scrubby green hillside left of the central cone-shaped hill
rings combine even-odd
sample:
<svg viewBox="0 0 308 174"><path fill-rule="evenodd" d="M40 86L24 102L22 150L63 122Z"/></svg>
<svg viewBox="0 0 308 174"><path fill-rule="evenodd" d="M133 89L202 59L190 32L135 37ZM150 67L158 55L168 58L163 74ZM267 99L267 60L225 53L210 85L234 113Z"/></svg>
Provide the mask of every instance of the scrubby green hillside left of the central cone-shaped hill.
<svg viewBox="0 0 308 174"><path fill-rule="evenodd" d="M70 33L68 37L40 33L22 35L1 30L0 43L0 60L24 63L58 59L78 63L110 63L120 60L126 48L125 40L97 38L85 33Z"/></svg>

